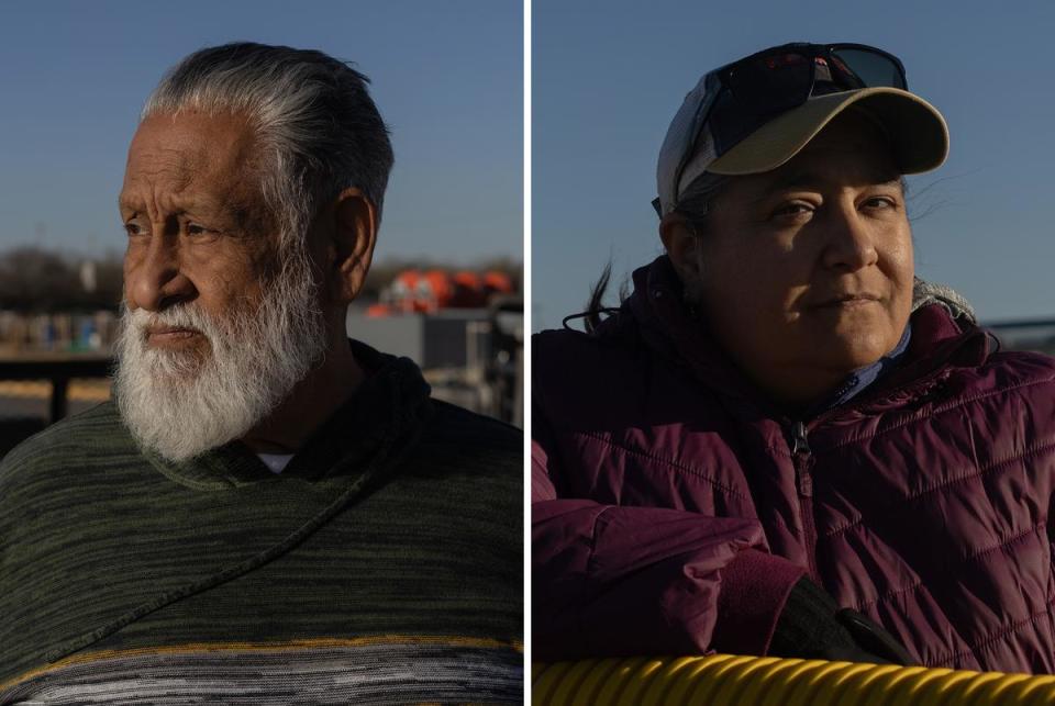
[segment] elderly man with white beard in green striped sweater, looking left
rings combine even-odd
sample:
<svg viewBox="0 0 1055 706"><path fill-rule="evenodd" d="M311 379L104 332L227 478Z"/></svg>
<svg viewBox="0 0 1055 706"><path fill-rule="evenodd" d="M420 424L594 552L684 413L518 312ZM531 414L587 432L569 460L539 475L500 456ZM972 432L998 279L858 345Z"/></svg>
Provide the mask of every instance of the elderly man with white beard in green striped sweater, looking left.
<svg viewBox="0 0 1055 706"><path fill-rule="evenodd" d="M522 436L345 335L391 163L319 52L149 98L114 403L0 468L0 703L521 697Z"/></svg>

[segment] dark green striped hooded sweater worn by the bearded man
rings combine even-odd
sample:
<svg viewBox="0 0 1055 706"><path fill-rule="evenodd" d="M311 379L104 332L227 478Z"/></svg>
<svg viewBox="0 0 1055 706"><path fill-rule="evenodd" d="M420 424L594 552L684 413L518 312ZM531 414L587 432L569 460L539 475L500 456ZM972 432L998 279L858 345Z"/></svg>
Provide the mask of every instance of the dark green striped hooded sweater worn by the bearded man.
<svg viewBox="0 0 1055 706"><path fill-rule="evenodd" d="M0 466L0 704L522 698L522 435L373 374L275 475L104 403Z"/></svg>

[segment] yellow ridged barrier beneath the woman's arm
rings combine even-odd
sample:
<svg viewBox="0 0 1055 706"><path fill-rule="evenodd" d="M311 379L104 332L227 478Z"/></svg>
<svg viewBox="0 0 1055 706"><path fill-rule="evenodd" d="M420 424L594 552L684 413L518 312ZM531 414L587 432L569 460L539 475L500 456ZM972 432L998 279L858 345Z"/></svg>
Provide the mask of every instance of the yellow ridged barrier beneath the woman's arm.
<svg viewBox="0 0 1055 706"><path fill-rule="evenodd" d="M1055 676L776 657L634 657L532 665L535 706L1034 706Z"/></svg>

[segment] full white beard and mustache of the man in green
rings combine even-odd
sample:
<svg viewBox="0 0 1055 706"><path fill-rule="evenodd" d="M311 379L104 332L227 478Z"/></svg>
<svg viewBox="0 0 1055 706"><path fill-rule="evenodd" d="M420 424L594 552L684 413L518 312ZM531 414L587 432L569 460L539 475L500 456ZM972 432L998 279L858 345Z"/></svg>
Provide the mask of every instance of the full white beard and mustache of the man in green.
<svg viewBox="0 0 1055 706"><path fill-rule="evenodd" d="M114 396L136 441L184 461L245 436L325 352L316 291L310 266L296 258L256 311L213 318L193 302L153 313L123 306ZM209 351L152 348L146 332L156 325L201 332Z"/></svg>

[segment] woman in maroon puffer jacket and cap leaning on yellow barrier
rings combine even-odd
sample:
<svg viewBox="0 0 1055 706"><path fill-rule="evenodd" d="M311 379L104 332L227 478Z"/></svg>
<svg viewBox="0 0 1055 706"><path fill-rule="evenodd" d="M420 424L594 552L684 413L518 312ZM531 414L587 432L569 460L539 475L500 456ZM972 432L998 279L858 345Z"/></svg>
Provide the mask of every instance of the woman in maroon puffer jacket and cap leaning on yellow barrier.
<svg viewBox="0 0 1055 706"><path fill-rule="evenodd" d="M1055 670L1055 361L914 281L901 177L946 152L873 47L775 47L687 96L666 254L534 341L536 658Z"/></svg>

